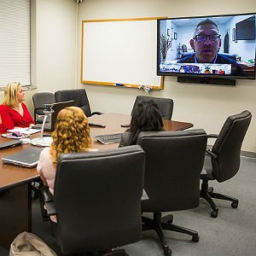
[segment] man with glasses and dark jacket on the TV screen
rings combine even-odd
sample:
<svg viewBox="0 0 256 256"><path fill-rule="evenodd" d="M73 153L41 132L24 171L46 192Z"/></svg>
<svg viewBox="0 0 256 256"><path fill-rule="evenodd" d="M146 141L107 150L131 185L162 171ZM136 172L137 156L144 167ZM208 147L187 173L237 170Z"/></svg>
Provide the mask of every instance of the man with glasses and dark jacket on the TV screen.
<svg viewBox="0 0 256 256"><path fill-rule="evenodd" d="M234 60L224 55L219 55L221 45L217 24L212 20L201 20L195 27L193 38L189 41L194 54L184 57L177 63L217 63L231 64L231 75L245 75L241 66Z"/></svg>

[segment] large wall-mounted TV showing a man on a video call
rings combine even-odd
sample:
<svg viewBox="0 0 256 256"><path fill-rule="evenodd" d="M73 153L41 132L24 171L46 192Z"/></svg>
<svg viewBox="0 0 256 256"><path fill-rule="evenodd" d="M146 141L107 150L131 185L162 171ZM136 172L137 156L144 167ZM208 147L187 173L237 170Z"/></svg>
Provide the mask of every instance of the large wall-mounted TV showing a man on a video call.
<svg viewBox="0 0 256 256"><path fill-rule="evenodd" d="M255 79L255 15L157 20L157 75Z"/></svg>

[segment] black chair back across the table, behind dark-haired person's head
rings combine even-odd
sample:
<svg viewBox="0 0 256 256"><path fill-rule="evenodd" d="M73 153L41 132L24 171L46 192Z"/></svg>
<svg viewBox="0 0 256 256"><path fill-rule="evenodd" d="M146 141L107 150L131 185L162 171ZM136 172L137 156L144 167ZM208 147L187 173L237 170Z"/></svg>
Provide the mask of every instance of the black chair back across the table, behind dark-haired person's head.
<svg viewBox="0 0 256 256"><path fill-rule="evenodd" d="M172 111L173 111L173 101L168 98L157 98L151 96L137 96L136 101L134 102L133 108L131 110L131 115L134 112L135 108L137 108L137 104L143 101L153 100L158 107L160 108L160 113L163 119L172 119Z"/></svg>

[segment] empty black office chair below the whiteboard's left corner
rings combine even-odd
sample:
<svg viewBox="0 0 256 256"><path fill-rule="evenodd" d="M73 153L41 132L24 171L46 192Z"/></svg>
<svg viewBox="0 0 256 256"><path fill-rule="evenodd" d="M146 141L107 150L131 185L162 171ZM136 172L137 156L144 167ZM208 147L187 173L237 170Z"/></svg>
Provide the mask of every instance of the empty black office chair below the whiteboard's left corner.
<svg viewBox="0 0 256 256"><path fill-rule="evenodd" d="M87 117L93 114L102 114L101 112L91 112L90 103L84 89L75 90L57 90L55 91L56 102L74 101L76 107L82 108Z"/></svg>

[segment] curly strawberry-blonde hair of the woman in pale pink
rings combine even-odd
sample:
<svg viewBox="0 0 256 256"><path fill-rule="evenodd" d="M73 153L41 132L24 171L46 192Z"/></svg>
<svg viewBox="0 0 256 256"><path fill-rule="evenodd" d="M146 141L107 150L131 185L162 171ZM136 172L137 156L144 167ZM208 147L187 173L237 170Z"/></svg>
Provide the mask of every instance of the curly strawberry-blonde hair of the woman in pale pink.
<svg viewBox="0 0 256 256"><path fill-rule="evenodd" d="M78 107L62 109L58 113L52 137L49 152L54 164L62 153L83 152L91 148L90 127L84 111Z"/></svg>

